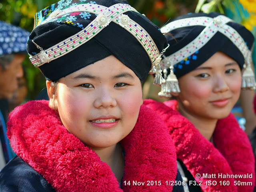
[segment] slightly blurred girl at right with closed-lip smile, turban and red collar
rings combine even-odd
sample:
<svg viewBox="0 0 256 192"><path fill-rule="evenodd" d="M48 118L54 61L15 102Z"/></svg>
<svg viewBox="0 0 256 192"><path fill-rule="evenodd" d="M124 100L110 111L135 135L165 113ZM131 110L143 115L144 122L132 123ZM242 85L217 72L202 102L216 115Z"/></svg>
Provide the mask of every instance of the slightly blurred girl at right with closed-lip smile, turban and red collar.
<svg viewBox="0 0 256 192"><path fill-rule="evenodd" d="M241 87L255 86L252 34L214 12L180 16L161 31L177 41L166 36L172 49L160 62L166 84L159 95L176 100L144 104L168 126L189 191L252 192L252 148L230 113Z"/></svg>

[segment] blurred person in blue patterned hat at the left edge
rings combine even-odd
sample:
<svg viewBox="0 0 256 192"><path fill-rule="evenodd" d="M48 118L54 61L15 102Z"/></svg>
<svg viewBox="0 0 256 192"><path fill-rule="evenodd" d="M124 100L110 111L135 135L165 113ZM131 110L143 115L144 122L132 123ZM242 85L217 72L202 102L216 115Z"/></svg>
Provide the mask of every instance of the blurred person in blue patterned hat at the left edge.
<svg viewBox="0 0 256 192"><path fill-rule="evenodd" d="M29 34L22 28L0 21L0 169L15 156L6 137L6 120L10 112L8 100L12 101L13 107L14 103L19 105L21 102L17 98L24 98L24 94L18 97L18 88L19 82L24 81L22 62Z"/></svg>

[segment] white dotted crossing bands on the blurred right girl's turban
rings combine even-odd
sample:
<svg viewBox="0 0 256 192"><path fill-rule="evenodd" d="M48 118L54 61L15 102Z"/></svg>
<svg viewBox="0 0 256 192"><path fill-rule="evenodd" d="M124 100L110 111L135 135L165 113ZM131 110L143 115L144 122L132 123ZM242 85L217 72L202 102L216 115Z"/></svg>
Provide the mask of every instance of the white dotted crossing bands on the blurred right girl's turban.
<svg viewBox="0 0 256 192"><path fill-rule="evenodd" d="M186 59L196 51L201 49L217 32L225 35L244 55L245 61L250 56L250 50L247 48L246 43L240 34L232 27L227 25L232 20L226 16L219 15L215 18L211 17L193 17L181 20L176 20L163 26L162 33L170 32L171 30L190 26L205 26L204 30L187 46L162 59L160 66L162 69L167 69L170 65L175 65L180 61Z"/></svg>

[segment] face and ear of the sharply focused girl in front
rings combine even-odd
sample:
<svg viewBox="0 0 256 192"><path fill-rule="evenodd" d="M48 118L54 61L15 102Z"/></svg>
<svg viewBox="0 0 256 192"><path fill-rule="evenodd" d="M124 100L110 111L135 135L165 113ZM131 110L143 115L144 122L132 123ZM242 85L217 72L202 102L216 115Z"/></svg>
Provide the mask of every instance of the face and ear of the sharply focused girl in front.
<svg viewBox="0 0 256 192"><path fill-rule="evenodd" d="M113 55L62 77L55 95L50 81L47 88L49 106L58 111L66 129L94 148L126 137L142 105L140 79Z"/></svg>

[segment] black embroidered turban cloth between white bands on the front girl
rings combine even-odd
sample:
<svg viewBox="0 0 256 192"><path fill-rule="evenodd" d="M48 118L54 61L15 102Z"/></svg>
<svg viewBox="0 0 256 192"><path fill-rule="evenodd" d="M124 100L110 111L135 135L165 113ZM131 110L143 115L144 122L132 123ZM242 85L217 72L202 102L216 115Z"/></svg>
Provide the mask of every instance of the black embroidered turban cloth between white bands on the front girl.
<svg viewBox="0 0 256 192"><path fill-rule="evenodd" d="M41 12L36 13L36 22L45 20L48 15L47 13L50 13L57 8L62 10L73 4L81 3L88 2L80 0L57 2ZM128 4L128 2L123 0L95 0L93 3L106 7L117 3ZM125 12L124 14L128 15L150 34L159 52L167 47L166 38L162 35L159 28L150 22L148 18L132 11ZM78 12L77 14L68 14L57 18L57 20L50 20L45 24L37 26L30 34L27 45L28 53L30 55L35 55L40 52L40 50L33 44L32 40L34 40L38 46L46 50L78 33L90 24L94 18L96 18L96 15L94 14ZM67 20L72 20L72 24L67 24ZM114 55L124 63L124 65L132 69L141 81L146 79L146 76L151 69L150 58L140 42L138 42L138 40L124 28L113 22L110 22L110 24L99 34L79 48L74 49L50 63L45 63L39 68L47 80L57 80L86 67L87 65L104 59L109 55Z"/></svg>

